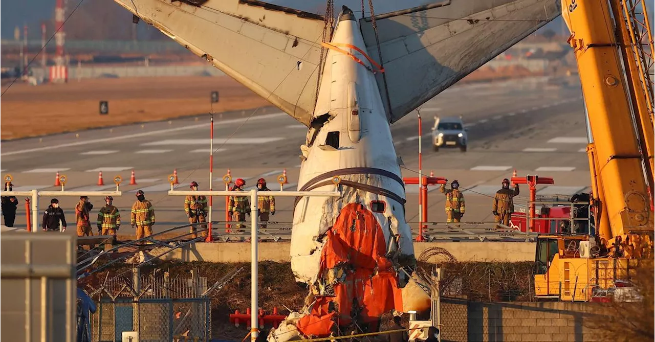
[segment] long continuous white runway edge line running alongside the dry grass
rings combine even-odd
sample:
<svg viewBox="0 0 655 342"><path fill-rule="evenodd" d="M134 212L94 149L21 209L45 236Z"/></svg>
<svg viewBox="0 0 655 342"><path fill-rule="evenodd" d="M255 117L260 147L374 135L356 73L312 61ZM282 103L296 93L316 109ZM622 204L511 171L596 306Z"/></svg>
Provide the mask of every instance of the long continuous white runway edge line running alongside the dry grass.
<svg viewBox="0 0 655 342"><path fill-rule="evenodd" d="M273 114L265 114L265 115L261 115L261 116L252 116L250 119L248 119L248 118L238 118L238 119L218 121L218 122L215 122L214 125L215 126L229 125L229 124L236 124L236 123L244 122L246 120L249 120L249 121L264 120L264 119L270 119L270 118L275 118L277 116L285 116L285 115L286 115L286 113L279 112L279 113L273 113ZM197 129L197 128L207 128L208 129L209 125L210 125L209 123L207 123L207 124L198 124L198 125L184 126L184 127L178 127L178 128L160 129L159 131L149 131L149 132L136 133L136 134L119 135L118 137L92 139L92 140L87 140L87 141L76 141L75 143L50 145L50 146L43 146L43 147L37 147L37 148L28 148L27 150L12 151L12 152L7 152L7 153L2 153L0 155L1 156L13 156L14 154L24 154L24 153L29 153L29 152L47 151L47 150L60 149L60 148L64 148L64 147L83 146L83 145L95 144L95 143L115 142L115 141L120 141L120 140L125 140L125 139L132 139L132 138L138 138L138 137L147 137L149 135L158 135L158 134L172 133L172 132L177 132L177 131L187 131L189 129Z"/></svg>

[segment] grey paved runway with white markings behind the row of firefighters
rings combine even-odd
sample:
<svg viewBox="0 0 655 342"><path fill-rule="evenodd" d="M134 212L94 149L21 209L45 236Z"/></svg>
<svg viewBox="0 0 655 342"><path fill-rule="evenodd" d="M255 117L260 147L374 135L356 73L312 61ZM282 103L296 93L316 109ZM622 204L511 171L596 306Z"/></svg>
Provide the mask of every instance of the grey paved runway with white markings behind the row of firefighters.
<svg viewBox="0 0 655 342"><path fill-rule="evenodd" d="M589 186L584 108L579 84L559 87L547 78L513 80L504 84L466 85L450 88L424 104L423 173L458 179L467 199L467 218L481 220L490 211L489 196L500 188L500 180L520 175L553 177L553 186L542 186L538 194L573 194ZM441 148L432 151L430 128L434 115L459 116L468 128L468 152ZM269 188L278 190L275 178L286 169L295 190L299 171L299 146L307 128L290 116L269 107L257 112L215 114L214 189L224 188L221 177L231 170L234 179L246 179L246 188L264 177ZM417 116L415 112L392 124L396 152L405 163L403 176L416 177L418 171ZM208 188L208 114L188 118L92 129L41 138L3 142L0 150L2 175L13 177L14 190L57 190L57 171L67 176L66 190L111 190L113 178L123 179L121 198L115 199L128 224L134 192L142 189L155 205L156 230L186 221L183 198L166 195L167 177L177 170L180 190L191 180ZM128 185L134 169L138 185ZM96 186L102 171L105 186ZM443 197L437 188L430 191L430 220L444 220ZM527 188L522 188L527 194ZM416 186L407 186L407 211L417 205ZM21 200L22 201L22 200ZM73 221L74 198L60 198L67 218ZM97 209L102 198L92 198ZM288 202L288 203L287 203ZM45 209L49 198L40 199ZM291 220L291 200L278 200L277 220ZM214 211L224 209L224 199L214 201ZM24 210L20 205L20 209ZM487 208L489 207L489 208ZM417 210L417 209L416 209ZM479 213L478 213L479 212ZM20 212L19 215L24 216ZM415 220L411 214L407 219ZM443 216L443 217L442 217ZM216 220L217 218L214 218ZM24 217L16 219L24 225ZM129 229L128 229L129 230Z"/></svg>

